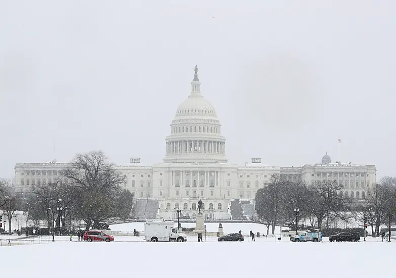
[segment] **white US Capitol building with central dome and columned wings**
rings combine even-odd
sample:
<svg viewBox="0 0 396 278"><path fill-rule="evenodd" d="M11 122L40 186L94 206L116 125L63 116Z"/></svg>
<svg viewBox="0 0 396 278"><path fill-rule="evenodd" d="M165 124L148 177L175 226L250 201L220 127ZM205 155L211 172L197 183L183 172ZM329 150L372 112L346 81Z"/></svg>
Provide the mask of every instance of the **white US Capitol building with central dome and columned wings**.
<svg viewBox="0 0 396 278"><path fill-rule="evenodd" d="M140 158L130 158L130 164L116 166L127 177L124 187L135 194L140 209L154 207L156 217L174 218L179 208L182 215L194 218L198 201L209 219L229 219L231 202L252 201L259 188L270 181L272 174L283 180L301 180L313 184L316 180L336 179L344 184L343 194L365 198L365 191L375 184L374 165L332 163L327 154L322 163L302 167L279 167L252 158L244 166L229 164L226 138L213 106L201 94L198 68L195 66L190 96L178 107L165 138L166 155L162 163L140 165ZM18 163L15 166L15 186L26 192L33 184L46 184L62 179L67 163ZM141 217L149 217L142 215Z"/></svg>

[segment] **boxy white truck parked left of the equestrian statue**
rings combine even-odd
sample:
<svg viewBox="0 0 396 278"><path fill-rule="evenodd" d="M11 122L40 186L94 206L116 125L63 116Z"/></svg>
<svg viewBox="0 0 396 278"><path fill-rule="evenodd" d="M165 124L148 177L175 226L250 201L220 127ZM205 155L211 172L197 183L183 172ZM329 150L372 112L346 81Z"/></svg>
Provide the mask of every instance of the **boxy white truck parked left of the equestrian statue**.
<svg viewBox="0 0 396 278"><path fill-rule="evenodd" d="M187 241L187 235L179 233L178 228L173 227L171 220L146 221L144 224L145 241Z"/></svg>

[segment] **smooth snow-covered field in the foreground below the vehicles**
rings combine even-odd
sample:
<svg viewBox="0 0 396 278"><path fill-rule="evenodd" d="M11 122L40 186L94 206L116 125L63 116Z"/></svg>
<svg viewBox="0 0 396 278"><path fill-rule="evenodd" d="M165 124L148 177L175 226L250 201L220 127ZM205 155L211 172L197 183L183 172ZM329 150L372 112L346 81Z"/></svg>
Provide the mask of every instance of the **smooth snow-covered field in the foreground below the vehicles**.
<svg viewBox="0 0 396 278"><path fill-rule="evenodd" d="M60 241L0 248L3 276L394 277L395 243ZM142 238L142 237L141 237ZM190 240L190 238L189 238ZM193 239L191 239L193 240ZM375 241L371 241L375 240ZM78 258L78 259L77 259ZM31 272L34 271L34 272ZM179 273L178 275L176 275ZM183 275L182 275L183 276Z"/></svg>

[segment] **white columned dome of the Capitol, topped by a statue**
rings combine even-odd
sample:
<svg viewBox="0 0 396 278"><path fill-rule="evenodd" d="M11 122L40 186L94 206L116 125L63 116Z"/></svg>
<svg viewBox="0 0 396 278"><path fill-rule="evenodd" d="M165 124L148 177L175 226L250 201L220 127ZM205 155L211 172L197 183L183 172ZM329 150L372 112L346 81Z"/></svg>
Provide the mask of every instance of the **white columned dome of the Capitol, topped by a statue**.
<svg viewBox="0 0 396 278"><path fill-rule="evenodd" d="M166 137L164 162L226 163L226 139L213 105L201 95L195 66L190 96L178 107Z"/></svg>

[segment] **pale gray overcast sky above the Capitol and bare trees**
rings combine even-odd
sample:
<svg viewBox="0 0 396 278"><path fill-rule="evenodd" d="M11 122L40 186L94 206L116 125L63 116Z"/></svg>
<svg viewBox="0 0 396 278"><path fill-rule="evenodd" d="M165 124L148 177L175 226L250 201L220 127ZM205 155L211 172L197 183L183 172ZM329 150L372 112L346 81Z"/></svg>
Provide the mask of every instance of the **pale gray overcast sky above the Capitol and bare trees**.
<svg viewBox="0 0 396 278"><path fill-rule="evenodd" d="M0 0L0 176L15 163L160 163L195 64L231 163L396 175L395 1Z"/></svg>

